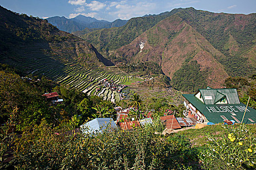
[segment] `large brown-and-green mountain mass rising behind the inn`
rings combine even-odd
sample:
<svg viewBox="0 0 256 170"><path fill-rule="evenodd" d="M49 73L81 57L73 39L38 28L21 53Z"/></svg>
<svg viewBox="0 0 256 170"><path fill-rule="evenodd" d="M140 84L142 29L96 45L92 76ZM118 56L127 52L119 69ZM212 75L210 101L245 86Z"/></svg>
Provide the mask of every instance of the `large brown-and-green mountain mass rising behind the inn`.
<svg viewBox="0 0 256 170"><path fill-rule="evenodd" d="M79 36L115 64L158 63L183 91L195 82L222 87L228 76L256 74L256 14L178 8Z"/></svg>

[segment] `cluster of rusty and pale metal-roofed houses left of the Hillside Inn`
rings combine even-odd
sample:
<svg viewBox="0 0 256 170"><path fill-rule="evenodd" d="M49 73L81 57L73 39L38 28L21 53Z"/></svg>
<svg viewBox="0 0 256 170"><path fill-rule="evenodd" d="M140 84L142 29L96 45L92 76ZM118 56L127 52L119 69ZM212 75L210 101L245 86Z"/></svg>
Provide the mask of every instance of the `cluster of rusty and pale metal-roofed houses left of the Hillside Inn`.
<svg viewBox="0 0 256 170"><path fill-rule="evenodd" d="M145 126L148 123L153 123L152 113L140 113L142 119L131 117L131 112L138 110L133 107L122 109L120 106L114 108L117 111L117 120L112 118L96 118L80 126L83 133L98 133L111 128L120 128L122 130L133 130L138 126ZM167 129L180 129L182 127L194 126L197 124L195 118L176 118L174 115L169 115L170 110L166 110L166 116L160 117L161 122Z"/></svg>

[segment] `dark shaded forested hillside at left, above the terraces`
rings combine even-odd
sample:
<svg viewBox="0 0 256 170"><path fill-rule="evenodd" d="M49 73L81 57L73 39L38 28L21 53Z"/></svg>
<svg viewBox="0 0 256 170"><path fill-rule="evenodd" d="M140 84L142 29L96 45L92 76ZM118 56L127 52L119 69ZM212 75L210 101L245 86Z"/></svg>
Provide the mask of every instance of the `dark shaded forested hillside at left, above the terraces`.
<svg viewBox="0 0 256 170"><path fill-rule="evenodd" d="M36 53L43 54L45 58L65 54L70 61L82 60L84 64L89 65L102 63L107 66L113 65L91 44L72 34L59 31L46 20L15 14L2 7L0 7L0 37L1 63L19 66L21 64L19 59L28 57L26 52L30 51L35 54L30 57L36 57Z"/></svg>

